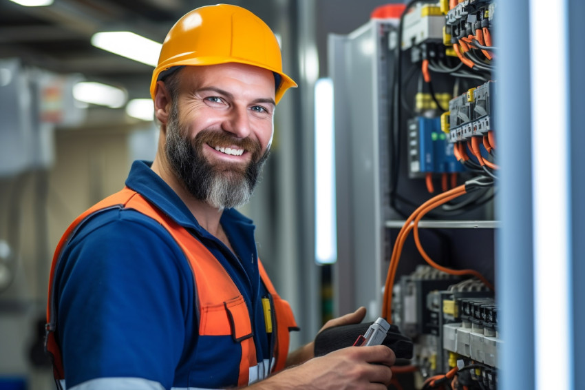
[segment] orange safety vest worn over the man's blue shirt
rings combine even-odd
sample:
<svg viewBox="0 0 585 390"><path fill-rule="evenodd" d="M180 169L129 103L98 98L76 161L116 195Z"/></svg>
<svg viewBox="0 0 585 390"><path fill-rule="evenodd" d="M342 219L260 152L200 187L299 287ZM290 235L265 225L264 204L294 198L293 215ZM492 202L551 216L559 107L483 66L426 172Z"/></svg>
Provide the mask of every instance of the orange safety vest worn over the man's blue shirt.
<svg viewBox="0 0 585 390"><path fill-rule="evenodd" d="M200 313L199 335L205 336L231 336L235 344L241 347L240 367L238 373L238 386L245 386L249 380L249 370L257 366L256 348L252 331L251 319L244 297L237 289L235 283L228 275L220 262L209 252L197 238L193 237L187 229L175 223L171 218L162 213L157 207L151 205L145 198L128 187L120 192L105 198L85 213L78 216L67 229L61 241L58 243L53 257L49 281L49 299L47 301L47 337L46 349L52 355L53 372L56 380L65 378L61 351L55 340L56 331L56 302L53 285L55 269L61 258L61 252L74 233L76 227L88 216L98 210L109 207L135 209L154 220L158 221L173 236L181 247L195 278L197 289L198 309ZM273 331L275 334L275 371L284 368L288 356L288 332L298 329L292 310L286 300L281 299L268 278L262 263L258 261L258 267L262 282L273 302ZM272 308L271 308L272 309ZM271 310L272 311L272 310ZM233 353L228 351L226 353Z"/></svg>

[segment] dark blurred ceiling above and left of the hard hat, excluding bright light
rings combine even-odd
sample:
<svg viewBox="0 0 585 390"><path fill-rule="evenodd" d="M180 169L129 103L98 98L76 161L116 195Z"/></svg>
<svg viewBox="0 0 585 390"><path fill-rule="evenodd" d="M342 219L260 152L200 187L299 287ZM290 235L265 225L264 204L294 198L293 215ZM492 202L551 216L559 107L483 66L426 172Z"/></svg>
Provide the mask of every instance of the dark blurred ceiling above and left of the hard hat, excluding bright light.
<svg viewBox="0 0 585 390"><path fill-rule="evenodd" d="M127 30L162 43L183 14L219 1L55 0L51 6L23 7L0 0L0 58L60 74L81 73L88 81L125 88L129 99L148 98L153 68L99 48L90 39L100 31ZM244 1L224 1L243 6ZM268 4L246 1L259 17ZM260 10L258 12L254 8ZM265 19L266 20L266 19ZM267 21L270 24L269 21Z"/></svg>

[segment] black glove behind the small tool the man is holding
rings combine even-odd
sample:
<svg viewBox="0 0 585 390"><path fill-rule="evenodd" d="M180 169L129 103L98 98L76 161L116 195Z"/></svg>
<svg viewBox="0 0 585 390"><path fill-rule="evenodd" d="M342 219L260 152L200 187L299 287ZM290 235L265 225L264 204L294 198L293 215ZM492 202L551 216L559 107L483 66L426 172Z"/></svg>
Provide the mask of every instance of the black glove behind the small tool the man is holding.
<svg viewBox="0 0 585 390"><path fill-rule="evenodd" d="M374 322L361 324L339 325L324 329L315 338L315 356L323 356L337 349L351 347L360 335L365 334ZM412 358L412 340L403 336L396 325L390 324L390 329L382 345L394 351L397 359Z"/></svg>

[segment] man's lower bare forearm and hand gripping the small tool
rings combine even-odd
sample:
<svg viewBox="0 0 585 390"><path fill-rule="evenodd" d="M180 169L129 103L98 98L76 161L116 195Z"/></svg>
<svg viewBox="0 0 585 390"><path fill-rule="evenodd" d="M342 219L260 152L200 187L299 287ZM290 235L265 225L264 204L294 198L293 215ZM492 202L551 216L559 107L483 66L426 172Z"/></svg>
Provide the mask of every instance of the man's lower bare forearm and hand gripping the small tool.
<svg viewBox="0 0 585 390"><path fill-rule="evenodd" d="M396 356L384 345L347 347L291 369L286 369L252 389L387 389Z"/></svg>

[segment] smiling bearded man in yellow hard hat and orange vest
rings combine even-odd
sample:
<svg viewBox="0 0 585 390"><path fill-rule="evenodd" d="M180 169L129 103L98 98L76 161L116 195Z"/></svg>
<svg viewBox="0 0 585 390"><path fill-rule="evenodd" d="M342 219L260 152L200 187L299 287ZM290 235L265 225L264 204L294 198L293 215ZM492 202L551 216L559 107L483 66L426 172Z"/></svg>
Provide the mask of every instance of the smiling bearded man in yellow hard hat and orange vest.
<svg viewBox="0 0 585 390"><path fill-rule="evenodd" d="M251 12L202 7L173 26L151 83L155 160L134 162L125 188L79 216L55 251L47 349L58 386L387 387L395 357L385 346L288 353L295 318L257 256L252 221L234 208L253 193L292 86L274 34Z"/></svg>

